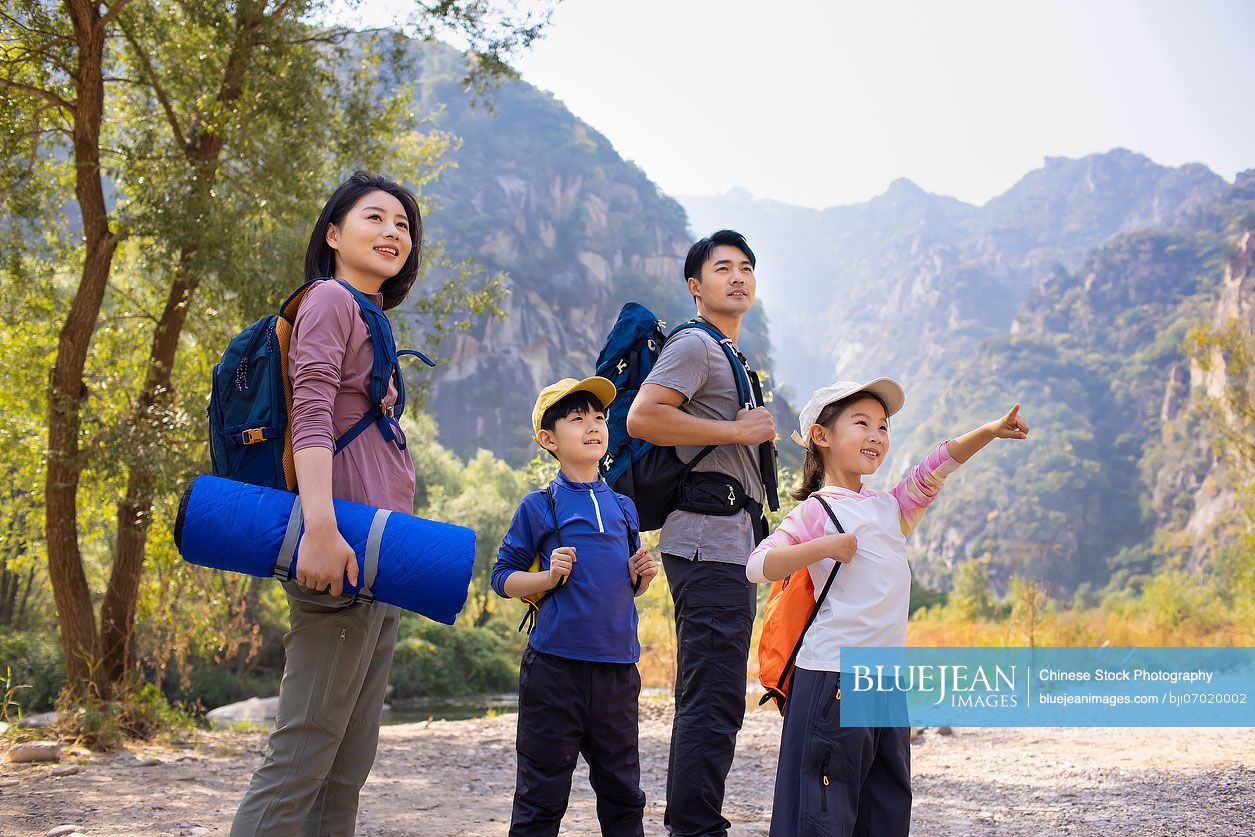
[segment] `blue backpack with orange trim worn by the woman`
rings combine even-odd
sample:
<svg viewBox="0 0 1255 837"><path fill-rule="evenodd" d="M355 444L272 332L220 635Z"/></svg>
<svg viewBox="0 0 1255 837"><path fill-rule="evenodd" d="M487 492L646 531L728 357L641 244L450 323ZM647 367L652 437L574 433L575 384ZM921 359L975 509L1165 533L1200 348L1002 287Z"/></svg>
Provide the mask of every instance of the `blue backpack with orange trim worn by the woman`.
<svg viewBox="0 0 1255 837"><path fill-rule="evenodd" d="M210 459L215 476L255 486L296 489L289 427L292 381L287 376L287 351L301 300L320 281L339 280L311 279L304 282L280 306L279 314L264 316L232 338L222 360L213 366L208 414ZM404 449L405 435L398 419L405 409L405 380L400 375L398 358L414 355L428 366L435 364L419 351L397 351L392 325L383 310L348 282L340 284L358 301L375 358L370 373L373 407L335 440L335 453L340 453L371 424L385 439ZM397 403L384 408L389 380L397 381Z"/></svg>

